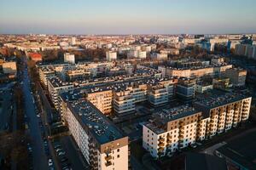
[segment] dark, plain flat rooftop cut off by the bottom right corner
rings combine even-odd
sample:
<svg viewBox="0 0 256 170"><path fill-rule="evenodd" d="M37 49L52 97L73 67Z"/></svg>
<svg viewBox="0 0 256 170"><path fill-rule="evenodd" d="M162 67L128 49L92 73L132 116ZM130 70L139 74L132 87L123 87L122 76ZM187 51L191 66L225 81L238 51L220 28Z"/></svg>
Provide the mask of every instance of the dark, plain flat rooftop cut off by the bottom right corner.
<svg viewBox="0 0 256 170"><path fill-rule="evenodd" d="M256 132L241 133L236 139L231 139L224 146L218 148L225 157L247 169L256 169Z"/></svg>

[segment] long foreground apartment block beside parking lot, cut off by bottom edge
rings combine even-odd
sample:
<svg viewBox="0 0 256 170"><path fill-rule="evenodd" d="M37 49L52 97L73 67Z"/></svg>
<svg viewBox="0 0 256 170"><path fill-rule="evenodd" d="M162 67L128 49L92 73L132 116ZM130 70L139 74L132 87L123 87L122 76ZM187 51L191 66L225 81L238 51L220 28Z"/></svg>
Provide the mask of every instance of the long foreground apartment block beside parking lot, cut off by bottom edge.
<svg viewBox="0 0 256 170"><path fill-rule="evenodd" d="M68 100L64 109L70 133L90 169L128 169L128 137L86 100Z"/></svg>

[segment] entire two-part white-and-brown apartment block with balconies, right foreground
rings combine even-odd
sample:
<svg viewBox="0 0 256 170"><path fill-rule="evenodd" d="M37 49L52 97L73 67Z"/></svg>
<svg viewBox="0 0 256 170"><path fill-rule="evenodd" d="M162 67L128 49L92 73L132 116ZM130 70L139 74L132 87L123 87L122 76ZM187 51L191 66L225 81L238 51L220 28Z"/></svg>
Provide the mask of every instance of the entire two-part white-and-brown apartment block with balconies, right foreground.
<svg viewBox="0 0 256 170"><path fill-rule="evenodd" d="M152 119L143 124L143 148L159 158L247 121L251 97L212 94L195 102L193 107L181 105L153 113Z"/></svg>

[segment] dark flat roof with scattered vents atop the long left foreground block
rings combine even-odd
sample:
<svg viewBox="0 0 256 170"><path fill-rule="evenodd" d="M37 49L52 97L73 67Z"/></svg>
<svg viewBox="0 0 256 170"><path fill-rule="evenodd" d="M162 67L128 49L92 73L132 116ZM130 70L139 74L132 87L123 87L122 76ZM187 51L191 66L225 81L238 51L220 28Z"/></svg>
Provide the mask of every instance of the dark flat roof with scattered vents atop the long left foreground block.
<svg viewBox="0 0 256 170"><path fill-rule="evenodd" d="M68 101L68 108L73 115L82 123L82 127L88 127L90 133L99 144L106 144L116 139L124 138L125 135L119 131L112 122L96 109L89 101L73 100Z"/></svg>

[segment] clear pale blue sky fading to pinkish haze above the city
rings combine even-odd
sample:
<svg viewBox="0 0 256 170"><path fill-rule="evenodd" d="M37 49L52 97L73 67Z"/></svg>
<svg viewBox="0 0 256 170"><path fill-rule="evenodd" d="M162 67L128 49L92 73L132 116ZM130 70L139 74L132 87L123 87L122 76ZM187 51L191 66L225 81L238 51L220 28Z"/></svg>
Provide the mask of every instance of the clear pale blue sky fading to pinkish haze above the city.
<svg viewBox="0 0 256 170"><path fill-rule="evenodd" d="M0 0L0 34L256 33L256 0Z"/></svg>

